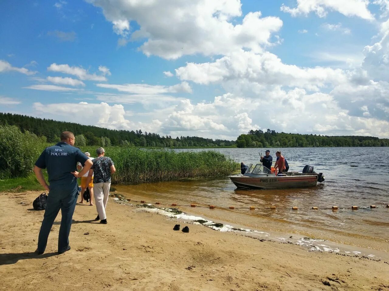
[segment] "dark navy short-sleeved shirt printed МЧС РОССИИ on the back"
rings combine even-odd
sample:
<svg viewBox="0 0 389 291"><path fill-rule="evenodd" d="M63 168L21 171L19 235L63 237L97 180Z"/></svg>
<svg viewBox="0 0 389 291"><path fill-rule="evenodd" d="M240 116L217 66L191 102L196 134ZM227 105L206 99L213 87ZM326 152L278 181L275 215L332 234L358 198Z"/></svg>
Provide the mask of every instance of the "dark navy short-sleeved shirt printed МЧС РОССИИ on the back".
<svg viewBox="0 0 389 291"><path fill-rule="evenodd" d="M88 157L78 148L66 142L46 147L35 162L35 166L46 169L49 183L55 185L77 184L77 178L70 172L77 170L77 162L85 164Z"/></svg>

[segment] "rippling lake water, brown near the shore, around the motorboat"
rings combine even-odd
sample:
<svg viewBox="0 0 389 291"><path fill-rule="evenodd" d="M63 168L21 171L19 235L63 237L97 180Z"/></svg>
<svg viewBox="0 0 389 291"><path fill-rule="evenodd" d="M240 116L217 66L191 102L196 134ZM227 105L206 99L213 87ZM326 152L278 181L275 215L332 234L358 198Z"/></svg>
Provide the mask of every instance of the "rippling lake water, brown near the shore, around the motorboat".
<svg viewBox="0 0 389 291"><path fill-rule="evenodd" d="M177 149L204 151L209 149ZM261 149L215 149L238 162L259 163ZM275 160L275 151L270 149ZM283 190L240 190L228 177L115 186L147 201L225 208L188 208L191 213L259 230L302 234L354 246L389 251L389 148L282 148L289 171L305 165L322 172L316 187ZM265 149L262 150L263 154ZM274 163L273 163L274 165ZM276 210L269 209L275 205ZM377 208L370 208L376 205ZM226 209L234 206L234 210ZM255 206L255 210L249 210ZM298 210L291 210L298 206ZM319 210L312 210L317 206ZM338 206L333 211L332 206ZM358 206L356 211L351 206Z"/></svg>

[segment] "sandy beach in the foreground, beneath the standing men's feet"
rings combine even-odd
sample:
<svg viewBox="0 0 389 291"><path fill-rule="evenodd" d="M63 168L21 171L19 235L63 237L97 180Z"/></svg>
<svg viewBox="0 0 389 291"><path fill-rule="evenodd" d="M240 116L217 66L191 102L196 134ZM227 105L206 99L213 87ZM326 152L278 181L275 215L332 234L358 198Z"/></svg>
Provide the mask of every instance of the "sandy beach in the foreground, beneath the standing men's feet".
<svg viewBox="0 0 389 291"><path fill-rule="evenodd" d="M57 255L61 215L46 253L33 253L44 211L39 192L0 193L2 290L389 290L389 262L311 252L175 220L107 206L108 224L94 222L95 206L78 204L72 249ZM181 228L187 224L180 223Z"/></svg>

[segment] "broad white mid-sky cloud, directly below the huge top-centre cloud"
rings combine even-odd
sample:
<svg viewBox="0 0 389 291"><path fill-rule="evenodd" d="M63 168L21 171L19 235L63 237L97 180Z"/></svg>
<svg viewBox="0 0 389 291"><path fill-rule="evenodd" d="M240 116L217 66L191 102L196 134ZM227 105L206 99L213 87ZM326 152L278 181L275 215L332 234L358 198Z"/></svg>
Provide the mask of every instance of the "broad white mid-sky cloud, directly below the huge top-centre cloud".
<svg viewBox="0 0 389 291"><path fill-rule="evenodd" d="M228 90L230 87L240 87L240 82L244 82L241 87L245 87L248 82L262 88L282 85L318 91L328 83L338 84L346 79L340 69L287 65L270 52L254 54L240 51L212 63L187 63L175 71L181 80L199 84L224 83Z"/></svg>

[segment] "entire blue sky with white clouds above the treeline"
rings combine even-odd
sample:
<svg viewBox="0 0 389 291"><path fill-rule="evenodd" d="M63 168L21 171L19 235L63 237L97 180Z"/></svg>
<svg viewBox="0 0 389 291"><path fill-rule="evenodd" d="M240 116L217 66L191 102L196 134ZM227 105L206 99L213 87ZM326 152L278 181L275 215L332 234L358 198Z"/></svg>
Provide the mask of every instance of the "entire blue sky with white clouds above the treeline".
<svg viewBox="0 0 389 291"><path fill-rule="evenodd" d="M0 111L235 139L389 137L388 0L0 3Z"/></svg>

